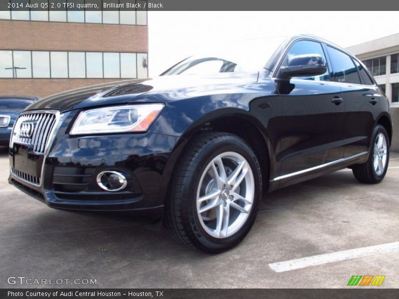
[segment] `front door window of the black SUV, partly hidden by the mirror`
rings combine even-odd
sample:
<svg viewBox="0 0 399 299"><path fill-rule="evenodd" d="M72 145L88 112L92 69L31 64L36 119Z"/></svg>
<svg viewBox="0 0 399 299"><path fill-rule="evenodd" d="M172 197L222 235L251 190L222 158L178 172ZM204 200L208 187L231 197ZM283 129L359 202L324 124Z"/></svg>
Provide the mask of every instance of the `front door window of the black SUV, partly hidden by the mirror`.
<svg viewBox="0 0 399 299"><path fill-rule="evenodd" d="M294 43L291 48L288 50L287 54L281 63L281 66L292 66L293 63L298 61L298 57L304 54L317 54L321 56L325 62L326 57L324 55L323 48L321 43L311 40L300 40ZM296 57L296 59L294 59ZM307 63L311 63L312 61L308 61ZM316 61L317 62L317 61ZM295 79L295 78L294 78ZM312 76L312 77L296 77L296 79L305 79L305 80L314 80L314 81L330 81L329 72L325 72L323 75Z"/></svg>

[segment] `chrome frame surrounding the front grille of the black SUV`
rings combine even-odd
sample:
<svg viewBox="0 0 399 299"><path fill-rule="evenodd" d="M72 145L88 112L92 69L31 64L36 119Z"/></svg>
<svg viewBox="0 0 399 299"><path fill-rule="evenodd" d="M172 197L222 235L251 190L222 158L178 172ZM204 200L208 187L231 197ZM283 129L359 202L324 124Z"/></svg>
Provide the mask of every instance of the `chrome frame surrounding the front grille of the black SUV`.
<svg viewBox="0 0 399 299"><path fill-rule="evenodd" d="M10 171L10 176L11 176L12 178L14 178L14 179L16 179L16 180L23 181L23 182L25 182L25 183L27 183L27 184L29 184L29 185L33 185L33 186L36 186L36 187L41 187L41 186L43 185L45 161L46 161L46 158L47 158L48 153L49 153L49 151L50 151L50 146L51 146L51 144L52 144L53 141L54 141L55 132L57 132L57 131L59 130L59 126L62 124L62 122L60 121L60 119L61 119L61 114L60 114L60 112L59 112L58 110L30 110L30 111L23 112L23 113L21 113L20 115L34 114L34 113L50 113L50 114L54 114L54 115L55 115L54 126L53 126L53 128L51 129L51 131L50 131L50 133L49 133L49 138L48 138L48 140L47 140L47 142L46 142L46 144L45 144L45 146L44 146L44 153L42 153L42 154L43 154L43 162L42 162L41 167L40 167L39 184L32 183L32 182L30 182L30 181L28 181L28 180L26 180L26 179L21 178L20 176L15 175L15 174L11 171L11 168L12 168L11 166L10 166L10 168L9 168L9 171ZM14 126L13 126L13 128L12 128L11 135L12 135L12 133L13 133L13 131L14 131L15 124L16 124L16 120L15 120ZM10 143L9 143L9 148L11 149L12 146L13 146L13 143L12 143L12 138L11 138L11 139L10 139Z"/></svg>

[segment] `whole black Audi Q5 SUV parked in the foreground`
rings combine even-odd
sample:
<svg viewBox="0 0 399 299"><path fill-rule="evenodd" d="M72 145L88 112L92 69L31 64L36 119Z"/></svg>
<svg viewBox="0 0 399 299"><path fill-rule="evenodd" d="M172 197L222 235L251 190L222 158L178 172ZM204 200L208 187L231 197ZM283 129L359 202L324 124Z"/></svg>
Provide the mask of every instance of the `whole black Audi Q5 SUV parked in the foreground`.
<svg viewBox="0 0 399 299"><path fill-rule="evenodd" d="M248 233L262 191L345 167L384 178L389 102L356 57L310 35L243 47L30 105L9 182L54 208L164 215L216 253Z"/></svg>

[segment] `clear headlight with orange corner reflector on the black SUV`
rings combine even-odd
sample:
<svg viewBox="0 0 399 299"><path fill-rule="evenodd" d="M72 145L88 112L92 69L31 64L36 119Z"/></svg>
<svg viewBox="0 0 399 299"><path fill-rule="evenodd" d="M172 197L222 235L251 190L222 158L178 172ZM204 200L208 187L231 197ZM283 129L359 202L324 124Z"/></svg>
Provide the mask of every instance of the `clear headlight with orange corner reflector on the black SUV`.
<svg viewBox="0 0 399 299"><path fill-rule="evenodd" d="M143 104L82 111L69 134L145 132L164 106L164 104Z"/></svg>

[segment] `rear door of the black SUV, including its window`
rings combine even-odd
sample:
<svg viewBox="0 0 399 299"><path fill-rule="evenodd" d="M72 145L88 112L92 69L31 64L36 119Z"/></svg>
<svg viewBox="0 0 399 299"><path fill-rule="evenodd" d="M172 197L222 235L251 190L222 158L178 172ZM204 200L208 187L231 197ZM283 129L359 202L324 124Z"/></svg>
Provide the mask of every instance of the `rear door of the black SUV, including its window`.
<svg viewBox="0 0 399 299"><path fill-rule="evenodd" d="M344 156L368 151L374 120L385 99L363 66L348 54L327 45L335 81L345 103Z"/></svg>

